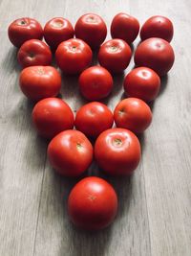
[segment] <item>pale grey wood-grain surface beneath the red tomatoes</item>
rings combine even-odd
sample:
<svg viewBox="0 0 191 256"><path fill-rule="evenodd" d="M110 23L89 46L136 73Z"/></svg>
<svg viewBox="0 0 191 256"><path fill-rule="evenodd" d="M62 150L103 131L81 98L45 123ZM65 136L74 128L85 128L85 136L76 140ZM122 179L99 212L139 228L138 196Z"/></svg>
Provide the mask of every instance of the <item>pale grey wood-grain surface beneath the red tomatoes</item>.
<svg viewBox="0 0 191 256"><path fill-rule="evenodd" d="M100 14L108 26L117 12L131 13L141 24L163 14L175 26L176 62L162 80L152 126L141 137L141 163L131 178L109 178L119 198L117 220L96 233L79 231L68 219L67 197L76 180L55 175L49 164L47 142L32 128L32 104L19 90L16 50L7 36L18 17L34 17L44 25L64 16L74 24L85 12ZM191 255L190 12L189 0L0 1L1 256ZM125 73L133 66L132 59ZM115 78L105 102L112 109L122 96L122 81ZM77 78L63 77L62 98L74 110L84 103ZM89 175L96 170L94 163Z"/></svg>

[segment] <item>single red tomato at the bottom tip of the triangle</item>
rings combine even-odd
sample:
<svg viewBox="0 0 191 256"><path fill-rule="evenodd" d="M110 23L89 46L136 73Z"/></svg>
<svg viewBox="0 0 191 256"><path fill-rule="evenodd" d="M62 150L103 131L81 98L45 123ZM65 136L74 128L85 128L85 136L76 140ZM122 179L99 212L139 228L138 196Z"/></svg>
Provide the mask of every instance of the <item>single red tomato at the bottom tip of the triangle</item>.
<svg viewBox="0 0 191 256"><path fill-rule="evenodd" d="M75 184L69 195L68 212L79 228L105 228L117 215L117 194L103 178L85 177Z"/></svg>

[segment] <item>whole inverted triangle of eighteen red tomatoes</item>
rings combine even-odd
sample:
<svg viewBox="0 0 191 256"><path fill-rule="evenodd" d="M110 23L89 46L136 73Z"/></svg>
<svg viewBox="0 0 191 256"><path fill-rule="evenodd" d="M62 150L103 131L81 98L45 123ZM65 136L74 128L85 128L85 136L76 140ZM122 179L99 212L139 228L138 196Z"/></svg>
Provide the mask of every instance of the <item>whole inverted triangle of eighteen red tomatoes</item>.
<svg viewBox="0 0 191 256"><path fill-rule="evenodd" d="M19 77L20 88L36 102L32 122L41 136L51 140L48 157L60 175L80 176L93 159L108 175L131 175L138 167L141 149L136 134L151 124L152 112L147 103L156 99L159 77L174 63L174 51L169 44L173 24L158 15L142 25L142 42L134 56L138 67L126 75L123 88L128 98L120 101L114 112L97 101L110 95L113 75L129 65L130 44L139 32L138 19L118 13L112 20L110 32L113 39L104 42L107 27L95 13L82 15L74 28L62 17L48 21L44 29L32 18L17 19L9 27L9 38L19 48L17 59L24 68ZM42 41L43 36L50 47ZM96 48L100 66L90 67ZM75 117L70 105L55 98L61 89L61 76L51 66L53 52L64 74L79 75L79 91L90 101L77 110ZM117 215L117 194L102 178L83 178L70 193L68 212L79 227L106 227Z"/></svg>

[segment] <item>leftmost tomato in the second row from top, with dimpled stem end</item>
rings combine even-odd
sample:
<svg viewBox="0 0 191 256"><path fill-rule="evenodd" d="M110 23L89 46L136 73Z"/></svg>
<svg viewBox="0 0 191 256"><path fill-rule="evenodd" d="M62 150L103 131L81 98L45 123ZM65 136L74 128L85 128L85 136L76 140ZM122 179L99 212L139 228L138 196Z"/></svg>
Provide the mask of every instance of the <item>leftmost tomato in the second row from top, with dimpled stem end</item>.
<svg viewBox="0 0 191 256"><path fill-rule="evenodd" d="M52 62L52 52L49 46L37 39L31 39L21 46L17 59L22 67L36 65L50 65Z"/></svg>

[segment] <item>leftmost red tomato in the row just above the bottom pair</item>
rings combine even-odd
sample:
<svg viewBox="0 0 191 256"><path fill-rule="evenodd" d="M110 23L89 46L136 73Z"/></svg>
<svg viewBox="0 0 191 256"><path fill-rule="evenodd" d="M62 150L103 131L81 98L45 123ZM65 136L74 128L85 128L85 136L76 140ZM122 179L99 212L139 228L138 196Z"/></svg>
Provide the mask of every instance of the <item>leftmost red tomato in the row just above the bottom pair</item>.
<svg viewBox="0 0 191 256"><path fill-rule="evenodd" d="M34 105L32 121L38 133L48 139L65 129L74 128L71 107L57 98L47 98Z"/></svg>

